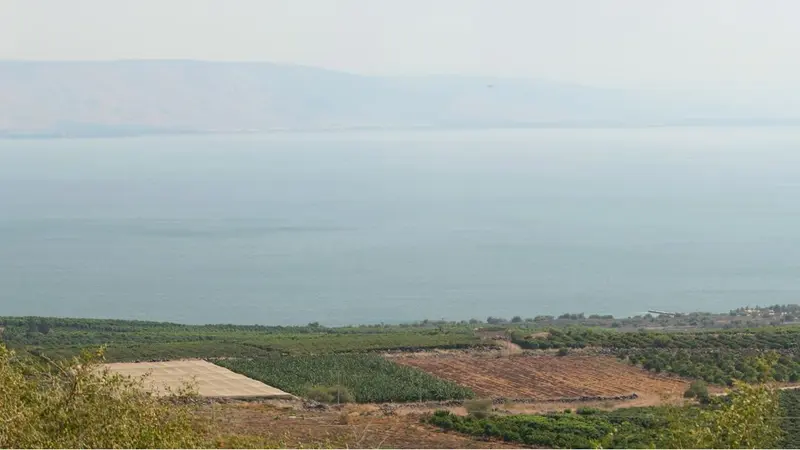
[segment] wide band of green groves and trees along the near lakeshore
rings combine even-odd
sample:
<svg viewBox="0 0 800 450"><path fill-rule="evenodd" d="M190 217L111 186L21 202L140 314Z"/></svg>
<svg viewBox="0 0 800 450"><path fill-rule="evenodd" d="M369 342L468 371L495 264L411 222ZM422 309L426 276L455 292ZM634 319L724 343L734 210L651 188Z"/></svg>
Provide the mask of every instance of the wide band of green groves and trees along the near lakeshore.
<svg viewBox="0 0 800 450"><path fill-rule="evenodd" d="M732 385L735 380L800 381L800 355L794 351L800 346L797 317L798 305L743 307L717 314L665 312L614 318L565 313L348 327L316 322L305 326L181 325L0 317L0 342L9 349L51 358L107 346L108 362L430 351L581 353L613 356L654 373ZM771 362L769 371L758 363L765 356Z"/></svg>

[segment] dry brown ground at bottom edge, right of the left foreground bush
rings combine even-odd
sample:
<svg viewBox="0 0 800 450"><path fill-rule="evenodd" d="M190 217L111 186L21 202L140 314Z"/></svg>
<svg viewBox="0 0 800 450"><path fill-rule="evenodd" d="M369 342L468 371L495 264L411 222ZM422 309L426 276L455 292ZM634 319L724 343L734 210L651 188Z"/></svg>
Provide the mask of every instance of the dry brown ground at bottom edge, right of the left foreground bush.
<svg viewBox="0 0 800 450"><path fill-rule="evenodd" d="M208 408L204 413L212 414ZM228 433L259 436L286 448L519 448L446 433L420 423L420 414L384 414L372 405L308 411L231 403L216 405L213 417Z"/></svg>

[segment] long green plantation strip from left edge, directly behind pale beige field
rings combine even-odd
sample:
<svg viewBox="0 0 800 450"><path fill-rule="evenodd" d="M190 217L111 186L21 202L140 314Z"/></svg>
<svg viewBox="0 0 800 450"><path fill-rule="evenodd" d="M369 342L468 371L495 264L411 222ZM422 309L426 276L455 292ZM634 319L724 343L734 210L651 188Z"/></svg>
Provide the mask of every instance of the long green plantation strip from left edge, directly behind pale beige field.
<svg viewBox="0 0 800 450"><path fill-rule="evenodd" d="M9 348L72 356L107 345L110 361L174 358L260 357L273 352L319 354L481 344L469 327L372 326L325 328L179 325L154 322L0 317L0 339Z"/></svg>

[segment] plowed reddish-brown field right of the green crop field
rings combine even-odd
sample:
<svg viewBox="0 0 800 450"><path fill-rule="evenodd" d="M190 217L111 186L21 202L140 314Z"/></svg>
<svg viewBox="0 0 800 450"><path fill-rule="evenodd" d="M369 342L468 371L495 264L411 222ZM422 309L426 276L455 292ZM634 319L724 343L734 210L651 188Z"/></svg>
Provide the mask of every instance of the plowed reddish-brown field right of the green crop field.
<svg viewBox="0 0 800 450"><path fill-rule="evenodd" d="M467 386L482 397L547 401L630 394L682 394L685 381L650 374L607 356L474 355L394 358Z"/></svg>

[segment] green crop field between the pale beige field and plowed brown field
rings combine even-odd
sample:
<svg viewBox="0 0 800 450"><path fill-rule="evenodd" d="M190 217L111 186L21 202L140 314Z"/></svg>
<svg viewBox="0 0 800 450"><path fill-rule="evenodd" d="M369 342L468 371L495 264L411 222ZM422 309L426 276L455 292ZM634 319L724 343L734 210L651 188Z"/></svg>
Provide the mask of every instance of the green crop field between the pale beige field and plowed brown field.
<svg viewBox="0 0 800 450"><path fill-rule="evenodd" d="M473 392L375 354L327 354L226 359L218 365L296 395L343 386L357 402L414 402L472 398Z"/></svg>

